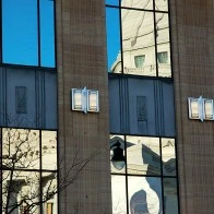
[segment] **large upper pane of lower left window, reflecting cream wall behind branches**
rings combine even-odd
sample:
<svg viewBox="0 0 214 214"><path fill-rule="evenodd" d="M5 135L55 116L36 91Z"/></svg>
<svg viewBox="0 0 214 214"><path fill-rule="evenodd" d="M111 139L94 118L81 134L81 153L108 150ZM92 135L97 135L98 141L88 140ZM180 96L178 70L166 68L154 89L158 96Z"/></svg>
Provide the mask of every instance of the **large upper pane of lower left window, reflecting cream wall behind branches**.
<svg viewBox="0 0 214 214"><path fill-rule="evenodd" d="M39 131L2 129L2 165L7 169L39 169Z"/></svg>

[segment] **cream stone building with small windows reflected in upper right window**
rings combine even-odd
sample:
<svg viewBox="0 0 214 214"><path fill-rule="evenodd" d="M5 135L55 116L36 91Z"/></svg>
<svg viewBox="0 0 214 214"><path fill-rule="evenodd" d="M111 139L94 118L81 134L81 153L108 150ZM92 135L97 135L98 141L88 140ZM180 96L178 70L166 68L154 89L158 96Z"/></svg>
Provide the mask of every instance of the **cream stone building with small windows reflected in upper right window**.
<svg viewBox="0 0 214 214"><path fill-rule="evenodd" d="M135 3L135 4L134 4ZM157 8L166 7L159 1ZM145 1L123 0L121 7L145 9ZM152 1L147 1L150 9ZM162 10L160 10L162 11ZM119 31L119 28L118 28ZM123 73L155 76L158 66L159 76L171 76L169 25L167 13L142 10L121 10ZM121 51L110 68L112 73L121 73Z"/></svg>

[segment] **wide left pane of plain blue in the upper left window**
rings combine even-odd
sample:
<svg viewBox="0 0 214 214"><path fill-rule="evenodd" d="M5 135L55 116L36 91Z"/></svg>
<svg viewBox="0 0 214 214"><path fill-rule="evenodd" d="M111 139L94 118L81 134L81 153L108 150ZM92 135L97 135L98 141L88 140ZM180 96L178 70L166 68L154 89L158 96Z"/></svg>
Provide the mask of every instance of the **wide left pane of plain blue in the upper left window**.
<svg viewBox="0 0 214 214"><path fill-rule="evenodd" d="M37 0L2 0L3 63L38 66Z"/></svg>

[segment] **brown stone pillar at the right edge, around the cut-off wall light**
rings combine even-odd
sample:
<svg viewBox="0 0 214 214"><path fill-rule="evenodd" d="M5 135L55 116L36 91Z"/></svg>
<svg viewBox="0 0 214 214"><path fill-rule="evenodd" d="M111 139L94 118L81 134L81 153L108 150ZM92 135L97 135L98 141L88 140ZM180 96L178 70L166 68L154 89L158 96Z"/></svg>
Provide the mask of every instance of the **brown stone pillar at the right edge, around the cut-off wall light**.
<svg viewBox="0 0 214 214"><path fill-rule="evenodd" d="M181 214L214 213L214 122L188 119L188 97L214 98L214 1L170 2Z"/></svg>

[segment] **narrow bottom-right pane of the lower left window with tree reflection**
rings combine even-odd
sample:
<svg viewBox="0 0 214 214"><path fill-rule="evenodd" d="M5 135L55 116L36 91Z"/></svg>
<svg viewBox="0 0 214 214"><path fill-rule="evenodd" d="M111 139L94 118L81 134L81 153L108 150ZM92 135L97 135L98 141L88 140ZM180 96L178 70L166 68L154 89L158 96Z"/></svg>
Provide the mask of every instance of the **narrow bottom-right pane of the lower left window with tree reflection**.
<svg viewBox="0 0 214 214"><path fill-rule="evenodd" d="M56 173L44 173L41 176L44 213L57 214L57 175Z"/></svg>

